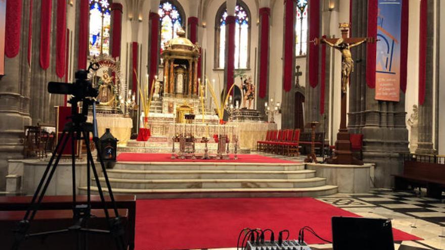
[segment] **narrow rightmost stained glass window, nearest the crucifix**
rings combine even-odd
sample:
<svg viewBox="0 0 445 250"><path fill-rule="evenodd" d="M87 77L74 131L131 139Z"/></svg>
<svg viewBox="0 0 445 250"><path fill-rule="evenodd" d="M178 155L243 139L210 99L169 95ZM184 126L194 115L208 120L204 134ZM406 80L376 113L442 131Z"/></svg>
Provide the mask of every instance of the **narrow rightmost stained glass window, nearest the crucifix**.
<svg viewBox="0 0 445 250"><path fill-rule="evenodd" d="M307 51L307 0L297 1L295 22L295 55L304 56Z"/></svg>

